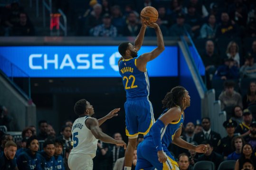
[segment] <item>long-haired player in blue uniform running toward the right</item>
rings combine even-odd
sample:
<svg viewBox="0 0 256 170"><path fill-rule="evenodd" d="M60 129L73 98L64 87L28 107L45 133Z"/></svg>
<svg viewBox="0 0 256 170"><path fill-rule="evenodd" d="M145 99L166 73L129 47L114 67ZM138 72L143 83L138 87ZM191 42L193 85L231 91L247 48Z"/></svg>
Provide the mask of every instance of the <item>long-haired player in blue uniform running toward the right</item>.
<svg viewBox="0 0 256 170"><path fill-rule="evenodd" d="M184 110L190 106L189 92L177 86L166 94L162 104L166 109L138 145L136 170L179 170L167 149L171 143L196 152L207 152L207 145L195 146L180 138Z"/></svg>

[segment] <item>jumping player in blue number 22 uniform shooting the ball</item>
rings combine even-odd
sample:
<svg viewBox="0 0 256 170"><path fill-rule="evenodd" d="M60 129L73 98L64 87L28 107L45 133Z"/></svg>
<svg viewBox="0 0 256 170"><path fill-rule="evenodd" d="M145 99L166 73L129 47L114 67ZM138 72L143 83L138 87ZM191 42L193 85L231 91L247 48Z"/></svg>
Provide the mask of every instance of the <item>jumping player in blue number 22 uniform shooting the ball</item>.
<svg viewBox="0 0 256 170"><path fill-rule="evenodd" d="M152 52L137 57L142 46L146 27L152 27L157 35L157 47ZM149 101L149 77L146 65L164 50L163 37L156 23L142 22L139 35L134 45L129 42L121 43L118 51L122 55L118 61L119 73L122 76L126 90L125 124L128 145L125 151L124 169L131 170L133 151L136 148L138 134L147 134L154 123L152 104Z"/></svg>

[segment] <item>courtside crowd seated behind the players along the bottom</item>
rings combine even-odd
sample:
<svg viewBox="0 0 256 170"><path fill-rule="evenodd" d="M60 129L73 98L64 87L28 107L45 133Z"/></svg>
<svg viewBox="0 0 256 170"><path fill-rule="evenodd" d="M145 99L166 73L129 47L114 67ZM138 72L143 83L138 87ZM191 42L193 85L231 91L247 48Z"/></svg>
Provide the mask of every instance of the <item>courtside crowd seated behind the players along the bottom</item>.
<svg viewBox="0 0 256 170"><path fill-rule="evenodd" d="M198 145L206 144L209 149L205 154L180 148L171 144L169 150L179 164L180 170L192 170L200 161L211 161L217 170L224 161L234 160L235 170L245 167L256 167L256 121L255 115L249 109L242 111L240 106L234 107L234 115L223 123L227 136L220 136L211 129L211 121L203 117L201 124L192 122L183 127L181 138ZM241 119L237 119L239 116ZM71 134L72 121L67 120L60 134L57 134L47 121L38 123L39 132L35 126L26 127L22 138L17 140L8 132L0 131L0 169L1 170L69 170L67 159L73 147ZM114 139L122 140L120 133L113 134ZM137 145L143 141L138 137ZM98 141L94 170L123 170L123 147ZM137 152L133 153L135 170ZM8 168L9 167L9 168Z"/></svg>

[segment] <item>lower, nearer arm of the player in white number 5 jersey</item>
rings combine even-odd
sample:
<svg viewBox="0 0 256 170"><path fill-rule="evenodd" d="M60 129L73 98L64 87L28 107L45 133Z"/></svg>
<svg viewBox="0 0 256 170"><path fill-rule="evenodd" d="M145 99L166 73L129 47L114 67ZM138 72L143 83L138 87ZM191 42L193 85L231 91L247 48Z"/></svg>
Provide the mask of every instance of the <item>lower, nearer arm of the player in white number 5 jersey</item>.
<svg viewBox="0 0 256 170"><path fill-rule="evenodd" d="M91 130L92 134L95 136L96 139L104 143L113 143L119 146L123 146L124 149L126 149L125 142L123 142L122 140L115 140L101 131L97 119L90 117L85 121L85 125Z"/></svg>

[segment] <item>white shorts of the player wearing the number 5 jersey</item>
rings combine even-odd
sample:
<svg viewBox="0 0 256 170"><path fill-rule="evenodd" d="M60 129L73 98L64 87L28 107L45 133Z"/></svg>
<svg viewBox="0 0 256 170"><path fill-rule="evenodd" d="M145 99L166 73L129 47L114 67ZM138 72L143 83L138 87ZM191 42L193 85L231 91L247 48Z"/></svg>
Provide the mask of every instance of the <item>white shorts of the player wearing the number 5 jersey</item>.
<svg viewBox="0 0 256 170"><path fill-rule="evenodd" d="M90 155L71 154L67 163L70 170L93 170L93 158Z"/></svg>

